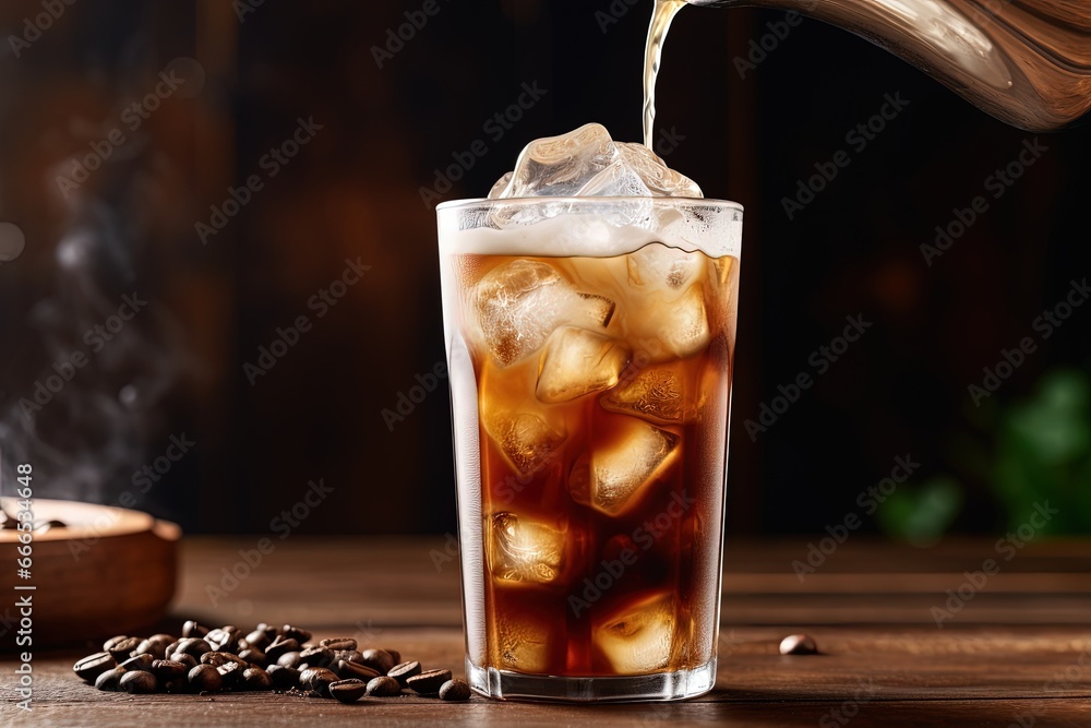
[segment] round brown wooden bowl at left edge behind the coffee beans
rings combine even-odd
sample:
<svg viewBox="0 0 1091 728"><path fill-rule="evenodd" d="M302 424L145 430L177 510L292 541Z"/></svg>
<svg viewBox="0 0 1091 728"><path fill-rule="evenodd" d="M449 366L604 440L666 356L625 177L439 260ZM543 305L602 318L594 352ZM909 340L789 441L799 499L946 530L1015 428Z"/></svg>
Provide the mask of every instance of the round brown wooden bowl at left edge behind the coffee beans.
<svg viewBox="0 0 1091 728"><path fill-rule="evenodd" d="M3 499L14 516L19 504ZM34 533L31 578L20 578L19 532L0 530L0 635L21 629L17 599L31 596L32 648L129 634L154 624L166 612L178 575L173 523L146 513L74 501L35 498L34 522L62 521L67 528ZM33 585L34 590L15 590ZM10 606L9 606L10 605ZM4 636L0 649L20 651Z"/></svg>

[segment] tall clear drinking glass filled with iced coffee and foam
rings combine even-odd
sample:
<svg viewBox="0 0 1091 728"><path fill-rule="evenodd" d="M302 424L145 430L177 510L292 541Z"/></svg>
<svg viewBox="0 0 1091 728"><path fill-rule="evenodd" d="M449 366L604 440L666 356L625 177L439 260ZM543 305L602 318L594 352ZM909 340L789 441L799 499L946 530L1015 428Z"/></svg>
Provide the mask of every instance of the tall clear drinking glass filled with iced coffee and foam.
<svg viewBox="0 0 1091 728"><path fill-rule="evenodd" d="M470 685L707 692L742 207L533 198L436 214Z"/></svg>

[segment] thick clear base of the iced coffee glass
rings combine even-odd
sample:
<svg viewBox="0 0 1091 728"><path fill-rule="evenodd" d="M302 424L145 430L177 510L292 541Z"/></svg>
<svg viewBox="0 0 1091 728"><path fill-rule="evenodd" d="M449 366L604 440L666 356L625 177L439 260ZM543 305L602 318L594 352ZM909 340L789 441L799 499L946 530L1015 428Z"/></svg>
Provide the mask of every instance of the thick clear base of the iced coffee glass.
<svg viewBox="0 0 1091 728"><path fill-rule="evenodd" d="M476 692L499 700L570 703L679 701L704 695L716 684L716 658L692 670L621 678L563 678L478 667L466 658L466 679Z"/></svg>

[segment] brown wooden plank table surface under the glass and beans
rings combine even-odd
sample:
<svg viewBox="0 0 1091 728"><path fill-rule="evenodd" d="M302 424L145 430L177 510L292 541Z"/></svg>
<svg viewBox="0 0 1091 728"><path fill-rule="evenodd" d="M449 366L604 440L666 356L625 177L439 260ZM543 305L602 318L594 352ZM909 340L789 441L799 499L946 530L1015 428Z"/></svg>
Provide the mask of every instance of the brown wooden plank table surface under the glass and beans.
<svg viewBox="0 0 1091 728"><path fill-rule="evenodd" d="M187 538L171 613L209 625L293 623L389 646L461 675L457 559L444 539L295 536L213 604L207 587L257 537ZM673 704L553 705L400 697L341 705L271 693L104 693L72 663L98 647L36 651L33 712L14 707L12 654L0 655L0 725L33 726L1091 726L1091 541L1030 544L988 576L943 628L964 572L996 559L995 541L921 550L862 537L801 583L806 539L729 542L720 664L710 694ZM963 587L963 595L970 594ZM957 607L957 604L952 602ZM781 656L806 631L823 654Z"/></svg>

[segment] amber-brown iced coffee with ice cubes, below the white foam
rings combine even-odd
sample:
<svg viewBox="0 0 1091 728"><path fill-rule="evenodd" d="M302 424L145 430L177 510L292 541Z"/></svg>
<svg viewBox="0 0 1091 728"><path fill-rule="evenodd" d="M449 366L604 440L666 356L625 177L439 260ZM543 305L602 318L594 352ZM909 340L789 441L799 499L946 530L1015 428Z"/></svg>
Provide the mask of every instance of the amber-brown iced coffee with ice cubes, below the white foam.
<svg viewBox="0 0 1091 728"><path fill-rule="evenodd" d="M715 655L738 260L686 253L642 282L650 268L628 258L456 256L479 402L484 667L640 675ZM475 291L513 265L555 271L588 311L514 360L521 344L490 344L473 320L504 314Z"/></svg>

